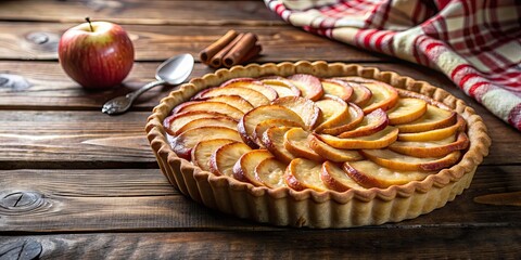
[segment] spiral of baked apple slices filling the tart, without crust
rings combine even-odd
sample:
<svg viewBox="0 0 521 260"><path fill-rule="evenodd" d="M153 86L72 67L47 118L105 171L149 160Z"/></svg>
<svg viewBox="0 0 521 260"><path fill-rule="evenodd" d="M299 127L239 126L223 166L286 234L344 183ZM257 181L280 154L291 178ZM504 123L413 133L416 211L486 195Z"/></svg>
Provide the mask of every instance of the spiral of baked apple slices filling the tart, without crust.
<svg viewBox="0 0 521 260"><path fill-rule="evenodd" d="M457 113L361 77L231 79L176 106L164 127L173 151L202 170L295 191L423 180L469 146Z"/></svg>

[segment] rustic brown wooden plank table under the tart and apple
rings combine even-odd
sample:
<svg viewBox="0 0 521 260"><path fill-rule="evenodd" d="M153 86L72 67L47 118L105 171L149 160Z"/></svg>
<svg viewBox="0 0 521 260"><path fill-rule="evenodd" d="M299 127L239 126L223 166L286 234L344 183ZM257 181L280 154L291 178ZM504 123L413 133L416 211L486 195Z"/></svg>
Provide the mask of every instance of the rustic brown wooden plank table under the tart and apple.
<svg viewBox="0 0 521 260"><path fill-rule="evenodd" d="M136 48L124 86L88 92L63 73L61 34L85 16L122 24ZM472 185L442 209L344 230L276 227L209 210L174 190L144 135L154 89L130 113L104 101L153 80L229 29L258 35L258 63L358 63L441 87L480 114L493 140ZM192 77L214 69L195 64ZM24 82L26 84L24 84ZM519 258L521 134L440 73L287 25L262 1L0 1L0 259ZM499 205L483 204L505 196Z"/></svg>

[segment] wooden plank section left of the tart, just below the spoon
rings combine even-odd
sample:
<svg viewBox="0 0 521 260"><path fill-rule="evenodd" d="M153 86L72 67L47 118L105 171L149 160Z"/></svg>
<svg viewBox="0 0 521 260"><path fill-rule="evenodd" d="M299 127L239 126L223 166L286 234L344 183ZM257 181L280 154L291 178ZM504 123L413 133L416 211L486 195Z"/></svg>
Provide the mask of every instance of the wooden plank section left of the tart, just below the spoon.
<svg viewBox="0 0 521 260"><path fill-rule="evenodd" d="M0 168L157 167L148 115L0 110Z"/></svg>

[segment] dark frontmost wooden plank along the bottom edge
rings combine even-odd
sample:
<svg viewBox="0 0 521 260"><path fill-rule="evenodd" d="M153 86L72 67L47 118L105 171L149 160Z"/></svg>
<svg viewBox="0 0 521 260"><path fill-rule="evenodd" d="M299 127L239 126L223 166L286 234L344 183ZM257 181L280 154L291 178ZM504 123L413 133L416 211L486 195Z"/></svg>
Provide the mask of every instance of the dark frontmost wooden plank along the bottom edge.
<svg viewBox="0 0 521 260"><path fill-rule="evenodd" d="M511 227L352 229L0 236L0 246L39 243L41 259L519 259L519 239Z"/></svg>

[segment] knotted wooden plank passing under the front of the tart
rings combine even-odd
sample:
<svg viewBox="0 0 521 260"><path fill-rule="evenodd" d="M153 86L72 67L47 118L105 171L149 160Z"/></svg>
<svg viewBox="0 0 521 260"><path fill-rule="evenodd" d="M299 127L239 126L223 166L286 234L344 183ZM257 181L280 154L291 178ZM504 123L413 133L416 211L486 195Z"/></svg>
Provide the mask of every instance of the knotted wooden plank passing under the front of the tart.
<svg viewBox="0 0 521 260"><path fill-rule="evenodd" d="M4 232L275 229L187 199L168 186L158 170L10 170L0 174L0 230ZM379 229L521 227L521 207L473 202L520 188L517 166L482 166L470 188L445 207Z"/></svg>

